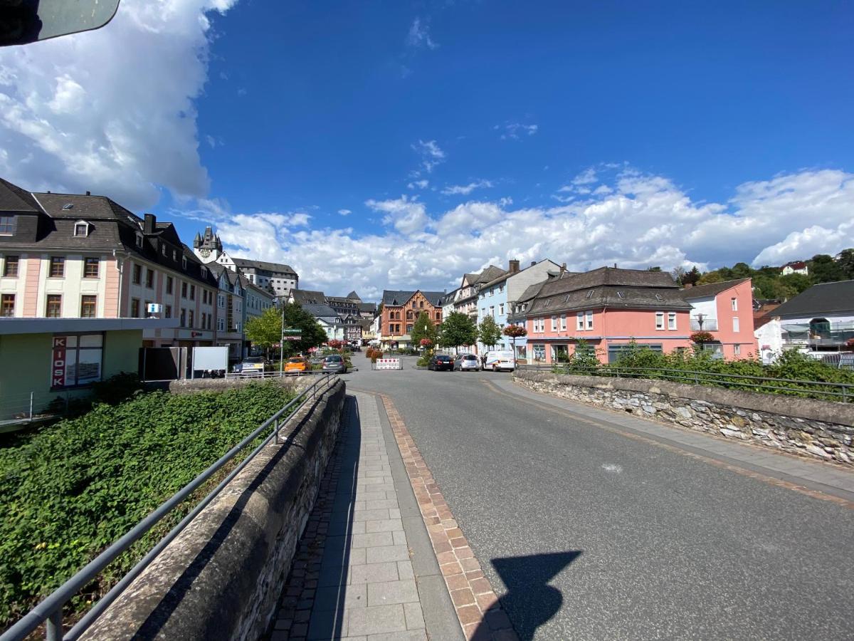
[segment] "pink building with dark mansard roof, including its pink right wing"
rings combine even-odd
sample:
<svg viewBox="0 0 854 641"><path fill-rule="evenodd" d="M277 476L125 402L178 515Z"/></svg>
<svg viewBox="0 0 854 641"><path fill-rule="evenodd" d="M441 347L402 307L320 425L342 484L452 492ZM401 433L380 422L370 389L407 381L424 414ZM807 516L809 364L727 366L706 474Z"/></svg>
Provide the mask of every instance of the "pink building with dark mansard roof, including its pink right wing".
<svg viewBox="0 0 854 641"><path fill-rule="evenodd" d="M717 339L706 349L746 358L755 351L751 310L749 279L682 290L664 272L562 273L542 285L525 311L529 362L558 362L580 340L601 362L616 361L633 340L664 353L684 350L699 324Z"/></svg>

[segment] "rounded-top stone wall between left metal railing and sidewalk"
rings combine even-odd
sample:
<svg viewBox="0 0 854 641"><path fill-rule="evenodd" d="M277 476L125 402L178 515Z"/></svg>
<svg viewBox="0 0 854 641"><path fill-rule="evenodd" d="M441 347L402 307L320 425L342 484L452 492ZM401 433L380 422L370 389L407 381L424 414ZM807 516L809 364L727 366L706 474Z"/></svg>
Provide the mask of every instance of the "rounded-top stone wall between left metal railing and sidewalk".
<svg viewBox="0 0 854 641"><path fill-rule="evenodd" d="M318 496L344 396L338 380L295 415L291 443L260 451L84 638L260 638Z"/></svg>

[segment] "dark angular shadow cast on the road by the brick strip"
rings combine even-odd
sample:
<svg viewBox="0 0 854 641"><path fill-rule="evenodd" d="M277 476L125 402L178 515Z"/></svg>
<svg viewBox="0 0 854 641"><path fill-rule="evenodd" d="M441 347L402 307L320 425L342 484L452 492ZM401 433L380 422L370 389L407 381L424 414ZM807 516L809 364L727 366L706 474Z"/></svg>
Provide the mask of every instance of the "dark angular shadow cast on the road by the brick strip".
<svg viewBox="0 0 854 641"><path fill-rule="evenodd" d="M521 641L534 638L536 629L558 613L564 597L548 583L581 554L580 550L570 550L492 560L507 587L506 595L500 598L501 607ZM489 613L474 638L489 638L488 621Z"/></svg>

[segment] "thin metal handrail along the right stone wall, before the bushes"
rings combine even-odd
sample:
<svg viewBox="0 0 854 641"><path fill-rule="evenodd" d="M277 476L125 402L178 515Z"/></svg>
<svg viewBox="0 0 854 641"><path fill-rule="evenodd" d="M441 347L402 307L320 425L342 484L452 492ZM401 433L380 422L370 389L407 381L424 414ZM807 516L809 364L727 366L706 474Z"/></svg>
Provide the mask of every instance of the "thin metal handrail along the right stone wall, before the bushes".
<svg viewBox="0 0 854 641"><path fill-rule="evenodd" d="M566 366L561 363L553 365L519 365L519 370L553 370L565 369L567 371L576 371L588 373L592 376L616 377L616 378L646 378L644 373L655 372L661 373L664 379L677 379L693 381L695 385L700 384L700 380L705 383L719 383L721 385L732 385L739 387L750 387L752 389L773 390L773 391L793 391L799 394L808 394L822 397L840 397L843 403L847 403L849 399L854 399L854 384L851 383L829 383L823 380L800 380L800 379L772 379L763 376L752 376L750 374L734 374L734 373L718 373L718 372L698 372L689 369L668 369L668 368L621 368L619 366L610 366L607 368L596 368L590 366ZM738 380L727 380L738 379ZM744 383L741 380L755 380L756 383ZM827 387L833 389L827 390L810 390L803 387L793 387L791 385L763 385L767 383L790 383L794 385L809 385ZM839 388L839 391L836 389Z"/></svg>

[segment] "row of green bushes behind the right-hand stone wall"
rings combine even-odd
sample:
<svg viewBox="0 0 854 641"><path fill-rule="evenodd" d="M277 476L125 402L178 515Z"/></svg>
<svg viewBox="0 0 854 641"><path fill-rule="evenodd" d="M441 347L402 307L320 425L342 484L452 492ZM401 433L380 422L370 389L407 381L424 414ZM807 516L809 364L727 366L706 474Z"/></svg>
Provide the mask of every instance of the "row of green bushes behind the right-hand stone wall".
<svg viewBox="0 0 854 641"><path fill-rule="evenodd" d="M676 370L668 373L633 371L634 368L655 368ZM831 367L821 361L805 356L798 351L786 351L773 365L763 365L754 359L739 361L724 361L713 359L709 351L685 350L662 354L648 347L633 345L624 350L617 362L602 364L594 356L592 350L584 356L572 355L562 365L554 368L558 373L583 373L593 376L632 376L644 379L666 379L699 385L715 385L743 391L782 394L795 397L820 398L823 400L839 400L828 391L839 392L840 388L828 388L825 385L810 385L809 383L787 383L779 381L757 381L740 377L760 377L766 379L789 379L798 381L815 381L822 383L847 383L854 385L854 371ZM684 376L680 371L685 372ZM707 374L704 376L704 374ZM714 374L728 374L722 378ZM732 378L730 378L732 377ZM762 385L774 385L779 389L768 389ZM854 402L854 397L847 397L848 402Z"/></svg>

